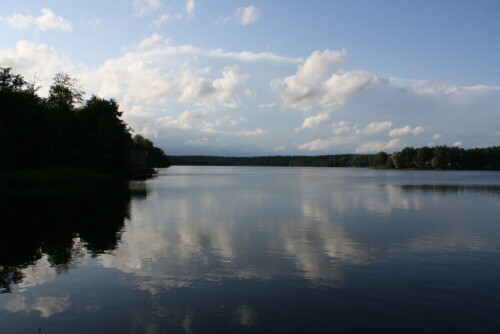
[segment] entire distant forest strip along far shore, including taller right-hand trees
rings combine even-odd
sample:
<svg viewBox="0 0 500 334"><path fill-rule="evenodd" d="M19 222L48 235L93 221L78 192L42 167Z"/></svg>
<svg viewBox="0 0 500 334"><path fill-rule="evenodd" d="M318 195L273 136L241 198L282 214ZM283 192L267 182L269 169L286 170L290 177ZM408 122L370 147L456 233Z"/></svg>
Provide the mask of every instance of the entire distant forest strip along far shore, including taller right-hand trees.
<svg viewBox="0 0 500 334"><path fill-rule="evenodd" d="M318 156L170 156L172 165L196 166L289 166L372 167L388 169L500 170L500 146L462 149L458 147L406 147L387 154L337 154Z"/></svg>

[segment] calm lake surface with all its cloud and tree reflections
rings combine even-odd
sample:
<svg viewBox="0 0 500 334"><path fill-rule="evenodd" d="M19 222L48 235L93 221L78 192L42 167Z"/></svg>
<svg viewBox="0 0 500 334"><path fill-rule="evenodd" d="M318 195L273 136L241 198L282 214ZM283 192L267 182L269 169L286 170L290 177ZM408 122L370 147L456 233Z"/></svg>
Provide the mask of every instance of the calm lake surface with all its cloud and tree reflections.
<svg viewBox="0 0 500 334"><path fill-rule="evenodd" d="M175 166L0 200L0 333L500 332L500 172Z"/></svg>

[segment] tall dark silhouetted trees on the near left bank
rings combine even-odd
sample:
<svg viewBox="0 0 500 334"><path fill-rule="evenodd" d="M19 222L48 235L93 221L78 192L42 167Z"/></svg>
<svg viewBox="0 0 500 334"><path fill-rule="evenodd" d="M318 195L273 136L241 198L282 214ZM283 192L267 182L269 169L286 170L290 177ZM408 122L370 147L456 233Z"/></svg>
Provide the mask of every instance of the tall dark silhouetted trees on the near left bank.
<svg viewBox="0 0 500 334"><path fill-rule="evenodd" d="M125 176L134 149L147 149L153 164L168 166L163 151L132 137L115 100L84 100L77 80L64 73L55 75L48 97L38 88L0 68L2 171L78 168Z"/></svg>

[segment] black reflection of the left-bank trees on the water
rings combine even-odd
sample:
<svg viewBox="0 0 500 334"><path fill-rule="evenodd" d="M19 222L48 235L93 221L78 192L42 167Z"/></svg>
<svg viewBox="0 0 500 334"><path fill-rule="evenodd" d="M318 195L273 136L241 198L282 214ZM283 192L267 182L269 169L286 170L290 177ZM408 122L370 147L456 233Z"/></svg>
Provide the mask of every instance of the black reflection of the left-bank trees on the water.
<svg viewBox="0 0 500 334"><path fill-rule="evenodd" d="M0 293L20 284L22 270L45 254L56 273L118 247L129 218L126 184L50 195L0 195Z"/></svg>

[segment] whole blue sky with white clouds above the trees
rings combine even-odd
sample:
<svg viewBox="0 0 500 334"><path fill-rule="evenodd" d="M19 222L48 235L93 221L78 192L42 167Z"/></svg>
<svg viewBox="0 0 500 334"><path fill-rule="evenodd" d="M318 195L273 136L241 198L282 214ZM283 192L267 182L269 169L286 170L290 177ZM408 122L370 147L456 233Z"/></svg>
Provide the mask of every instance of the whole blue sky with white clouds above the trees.
<svg viewBox="0 0 500 334"><path fill-rule="evenodd" d="M500 1L0 0L0 67L167 154L500 145Z"/></svg>

